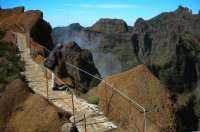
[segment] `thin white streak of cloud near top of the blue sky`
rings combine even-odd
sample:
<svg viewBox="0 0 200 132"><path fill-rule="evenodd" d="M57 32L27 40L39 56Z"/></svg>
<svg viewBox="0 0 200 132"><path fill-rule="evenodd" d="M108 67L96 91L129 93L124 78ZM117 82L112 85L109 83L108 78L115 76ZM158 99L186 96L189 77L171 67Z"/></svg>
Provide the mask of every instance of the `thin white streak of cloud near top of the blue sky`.
<svg viewBox="0 0 200 132"><path fill-rule="evenodd" d="M79 7L82 8L104 8L104 9L123 9L123 8L135 8L133 4L81 4Z"/></svg>

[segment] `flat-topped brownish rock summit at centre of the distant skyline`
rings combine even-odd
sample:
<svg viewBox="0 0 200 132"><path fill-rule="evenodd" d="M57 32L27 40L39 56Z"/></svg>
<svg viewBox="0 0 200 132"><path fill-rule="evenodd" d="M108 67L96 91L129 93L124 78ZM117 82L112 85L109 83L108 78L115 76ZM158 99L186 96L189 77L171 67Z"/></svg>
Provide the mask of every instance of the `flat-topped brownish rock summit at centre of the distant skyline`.
<svg viewBox="0 0 200 132"><path fill-rule="evenodd" d="M111 34L128 32L128 26L122 19L100 19L92 27L92 30Z"/></svg>

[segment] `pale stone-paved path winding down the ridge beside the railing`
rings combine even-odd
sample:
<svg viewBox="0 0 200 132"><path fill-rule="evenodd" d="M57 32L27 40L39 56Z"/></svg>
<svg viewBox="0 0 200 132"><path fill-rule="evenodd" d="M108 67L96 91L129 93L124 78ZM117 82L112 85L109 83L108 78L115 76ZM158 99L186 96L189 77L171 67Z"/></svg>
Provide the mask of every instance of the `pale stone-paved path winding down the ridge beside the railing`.
<svg viewBox="0 0 200 132"><path fill-rule="evenodd" d="M20 50L21 60L25 63L25 77L30 88L32 88L35 93L47 97L47 81L45 78L44 70L45 68L36 64L31 56L30 49L27 47L26 37L21 33L16 33L17 45ZM50 72L50 71L49 71ZM48 86L51 86L51 80L48 80ZM73 113L72 105L72 94L68 91L52 91L49 88L49 100L57 107ZM70 127L74 122L76 122L76 127L80 132L85 131L85 124L87 132L103 132L103 131L114 131L117 126L112 122L109 122L103 113L98 111L96 105L88 104L85 100L73 96L74 100L74 113L75 116L70 118L72 123L66 123L62 127L62 131L69 131ZM85 118L86 117L86 123ZM48 119L47 119L48 120Z"/></svg>

